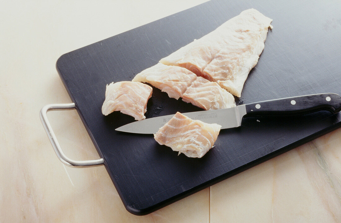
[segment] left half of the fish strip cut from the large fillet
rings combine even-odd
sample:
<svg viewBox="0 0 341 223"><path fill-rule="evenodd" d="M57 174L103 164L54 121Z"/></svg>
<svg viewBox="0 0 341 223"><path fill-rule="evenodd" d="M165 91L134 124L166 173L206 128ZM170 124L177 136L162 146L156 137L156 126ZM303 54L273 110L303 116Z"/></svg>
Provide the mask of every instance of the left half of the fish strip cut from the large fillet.
<svg viewBox="0 0 341 223"><path fill-rule="evenodd" d="M158 63L136 74L132 81L149 83L179 99L195 79L196 75L185 68Z"/></svg>

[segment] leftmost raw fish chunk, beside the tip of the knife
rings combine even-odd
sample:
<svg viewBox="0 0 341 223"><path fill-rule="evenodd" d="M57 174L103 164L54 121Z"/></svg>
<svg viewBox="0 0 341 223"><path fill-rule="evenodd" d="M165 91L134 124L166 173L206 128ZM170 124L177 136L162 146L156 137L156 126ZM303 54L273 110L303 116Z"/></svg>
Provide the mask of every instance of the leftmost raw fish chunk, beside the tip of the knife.
<svg viewBox="0 0 341 223"><path fill-rule="evenodd" d="M152 88L143 83L113 82L106 86L102 113L108 115L113 111L121 111L133 116L135 120L143 120L146 118L144 114L151 94Z"/></svg>

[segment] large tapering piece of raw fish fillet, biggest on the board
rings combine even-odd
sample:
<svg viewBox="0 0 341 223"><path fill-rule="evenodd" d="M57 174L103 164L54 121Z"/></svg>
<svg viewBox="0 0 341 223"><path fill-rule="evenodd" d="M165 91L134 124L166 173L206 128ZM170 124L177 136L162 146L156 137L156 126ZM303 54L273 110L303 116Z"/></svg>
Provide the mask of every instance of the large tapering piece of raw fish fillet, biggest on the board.
<svg viewBox="0 0 341 223"><path fill-rule="evenodd" d="M187 68L240 97L244 82L264 49L271 21L255 9L245 10L160 62Z"/></svg>

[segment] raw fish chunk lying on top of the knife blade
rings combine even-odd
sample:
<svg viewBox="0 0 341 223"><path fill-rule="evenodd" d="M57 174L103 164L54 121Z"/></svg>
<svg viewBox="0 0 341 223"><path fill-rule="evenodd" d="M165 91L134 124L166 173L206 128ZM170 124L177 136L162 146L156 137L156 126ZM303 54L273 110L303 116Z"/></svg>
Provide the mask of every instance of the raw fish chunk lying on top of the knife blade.
<svg viewBox="0 0 341 223"><path fill-rule="evenodd" d="M221 125L207 124L177 112L159 131L154 139L188 157L201 158L217 140Z"/></svg>

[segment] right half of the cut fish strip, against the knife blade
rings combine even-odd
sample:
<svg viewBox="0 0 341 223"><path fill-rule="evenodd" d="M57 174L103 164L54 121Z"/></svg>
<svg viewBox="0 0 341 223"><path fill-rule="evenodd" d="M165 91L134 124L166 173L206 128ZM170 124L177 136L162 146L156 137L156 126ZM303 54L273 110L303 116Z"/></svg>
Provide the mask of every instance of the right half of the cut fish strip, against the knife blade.
<svg viewBox="0 0 341 223"><path fill-rule="evenodd" d="M221 88L216 82L197 77L182 95L182 100L205 110L235 107L232 94Z"/></svg>

